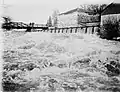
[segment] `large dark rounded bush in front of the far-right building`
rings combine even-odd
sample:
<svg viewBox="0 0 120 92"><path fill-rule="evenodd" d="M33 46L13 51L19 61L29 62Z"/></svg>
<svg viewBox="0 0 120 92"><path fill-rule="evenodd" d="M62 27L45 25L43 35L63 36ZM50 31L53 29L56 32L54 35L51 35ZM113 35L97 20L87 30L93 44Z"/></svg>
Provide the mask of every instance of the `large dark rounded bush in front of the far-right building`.
<svg viewBox="0 0 120 92"><path fill-rule="evenodd" d="M100 37L103 39L112 40L114 37L119 36L119 21L114 16L107 16L107 19L103 21L101 27Z"/></svg>

